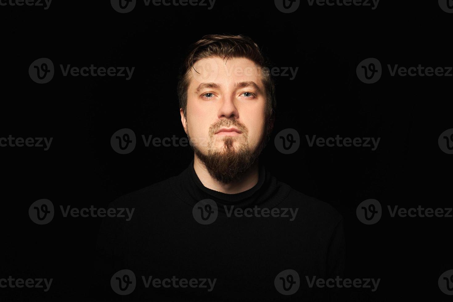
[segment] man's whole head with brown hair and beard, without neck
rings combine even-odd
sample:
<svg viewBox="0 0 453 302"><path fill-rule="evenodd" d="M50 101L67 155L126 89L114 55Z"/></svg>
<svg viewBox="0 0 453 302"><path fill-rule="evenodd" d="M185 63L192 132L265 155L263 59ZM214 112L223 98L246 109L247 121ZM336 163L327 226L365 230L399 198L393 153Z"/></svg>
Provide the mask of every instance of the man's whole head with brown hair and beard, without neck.
<svg viewBox="0 0 453 302"><path fill-rule="evenodd" d="M258 45L241 35L204 36L183 64L178 98L184 130L211 177L240 180L275 119L275 84Z"/></svg>

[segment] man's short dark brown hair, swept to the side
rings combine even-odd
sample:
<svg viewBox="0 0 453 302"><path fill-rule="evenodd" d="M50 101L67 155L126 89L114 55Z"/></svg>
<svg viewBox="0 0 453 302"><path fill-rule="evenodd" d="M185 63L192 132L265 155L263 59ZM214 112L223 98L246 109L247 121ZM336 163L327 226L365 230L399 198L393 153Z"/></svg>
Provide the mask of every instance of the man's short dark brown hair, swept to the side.
<svg viewBox="0 0 453 302"><path fill-rule="evenodd" d="M247 58L255 62L262 71L270 70L269 62L251 38L243 35L230 34L209 34L204 36L201 40L191 45L189 54L184 60L179 72L179 108L183 108L184 116L187 116L187 93L190 70L191 68L195 70L194 64L198 60L212 57L223 57L223 59ZM270 72L262 72L262 81L266 93L266 117L273 120L275 118L276 107L275 82Z"/></svg>

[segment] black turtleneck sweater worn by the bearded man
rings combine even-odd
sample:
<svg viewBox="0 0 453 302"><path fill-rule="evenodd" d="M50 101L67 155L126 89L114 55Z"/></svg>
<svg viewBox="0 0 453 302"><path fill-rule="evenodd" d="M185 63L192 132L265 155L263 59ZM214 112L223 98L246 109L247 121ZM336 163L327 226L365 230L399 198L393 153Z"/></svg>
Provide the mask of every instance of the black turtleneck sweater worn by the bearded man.
<svg viewBox="0 0 453 302"><path fill-rule="evenodd" d="M109 207L134 212L129 221L102 222L93 276L101 300L320 301L332 289L310 288L307 276L311 282L343 273L342 216L261 163L258 183L245 192L204 187L192 161L178 176ZM125 271L114 276L124 269L135 283ZM115 292L120 285L125 291Z"/></svg>

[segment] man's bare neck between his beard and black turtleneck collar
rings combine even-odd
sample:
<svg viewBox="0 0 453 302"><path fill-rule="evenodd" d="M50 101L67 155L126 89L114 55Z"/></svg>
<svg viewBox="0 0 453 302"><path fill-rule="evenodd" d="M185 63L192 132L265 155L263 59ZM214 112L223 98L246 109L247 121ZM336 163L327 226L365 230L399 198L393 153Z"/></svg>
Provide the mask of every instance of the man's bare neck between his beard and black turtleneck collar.
<svg viewBox="0 0 453 302"><path fill-rule="evenodd" d="M237 194L251 189L258 183L260 174L257 160L251 166L251 168L246 173L244 173L244 175L242 175L241 179L238 182L225 184L217 181L217 179L214 179L211 177L211 175L209 175L206 167L198 158L197 154L195 154L195 158L193 160L193 169L195 170L195 173L197 173L197 176L202 182L203 186L207 187L208 189L226 194Z"/></svg>

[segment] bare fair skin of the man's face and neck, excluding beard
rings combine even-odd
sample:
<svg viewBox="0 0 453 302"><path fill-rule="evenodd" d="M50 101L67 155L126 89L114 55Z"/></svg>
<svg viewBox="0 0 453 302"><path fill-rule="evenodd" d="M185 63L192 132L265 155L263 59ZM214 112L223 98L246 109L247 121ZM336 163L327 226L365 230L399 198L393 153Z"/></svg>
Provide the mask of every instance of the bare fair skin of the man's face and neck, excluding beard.
<svg viewBox="0 0 453 302"><path fill-rule="evenodd" d="M266 125L265 87L259 67L246 58L224 60L220 57L204 58L194 65L199 73L192 70L189 78L187 120L183 108L180 109L181 122L186 134L189 129L193 143L204 154L207 154L209 149L222 150L223 139L226 136L235 139L233 143L235 149L239 144L248 144L251 151L255 151ZM235 131L213 134L221 128L234 128L234 126L212 128L214 123L217 122L219 125L219 121L230 119L236 119L244 125L247 135ZM236 194L250 189L255 186L259 177L258 162L240 181L229 184L213 179L197 154L193 168L205 187L226 194Z"/></svg>

